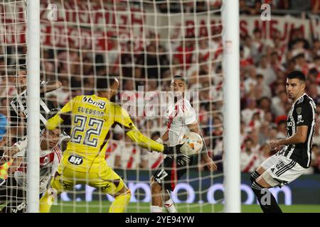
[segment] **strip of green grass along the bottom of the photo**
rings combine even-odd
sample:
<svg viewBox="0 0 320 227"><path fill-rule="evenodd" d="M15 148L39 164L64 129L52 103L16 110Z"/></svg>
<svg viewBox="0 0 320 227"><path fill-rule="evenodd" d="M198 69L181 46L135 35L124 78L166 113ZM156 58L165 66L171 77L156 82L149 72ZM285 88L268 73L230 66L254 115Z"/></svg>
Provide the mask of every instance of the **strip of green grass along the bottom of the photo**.
<svg viewBox="0 0 320 227"><path fill-rule="evenodd" d="M110 202L58 202L51 208L51 213L107 213ZM131 203L127 213L149 213L149 203ZM222 212L222 204L176 204L179 213L213 213ZM320 213L320 205L280 205L284 213ZM262 213L258 205L242 205L242 213Z"/></svg>

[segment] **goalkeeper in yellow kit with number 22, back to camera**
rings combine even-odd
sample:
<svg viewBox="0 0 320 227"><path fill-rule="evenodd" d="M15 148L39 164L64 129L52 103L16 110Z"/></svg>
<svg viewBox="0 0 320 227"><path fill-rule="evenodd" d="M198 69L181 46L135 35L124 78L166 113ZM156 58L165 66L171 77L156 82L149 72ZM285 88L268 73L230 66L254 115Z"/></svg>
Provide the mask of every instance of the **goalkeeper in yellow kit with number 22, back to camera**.
<svg viewBox="0 0 320 227"><path fill-rule="evenodd" d="M174 147L166 147L144 136L134 126L127 111L109 101L117 94L117 79L105 77L96 82L97 95L76 96L46 123L46 128L53 130L71 113L71 138L50 189L40 200L40 212L49 212L57 194L73 189L75 184L89 184L114 196L109 212L124 212L131 192L105 162L110 128L115 124L124 126L129 138L142 148L173 153Z"/></svg>

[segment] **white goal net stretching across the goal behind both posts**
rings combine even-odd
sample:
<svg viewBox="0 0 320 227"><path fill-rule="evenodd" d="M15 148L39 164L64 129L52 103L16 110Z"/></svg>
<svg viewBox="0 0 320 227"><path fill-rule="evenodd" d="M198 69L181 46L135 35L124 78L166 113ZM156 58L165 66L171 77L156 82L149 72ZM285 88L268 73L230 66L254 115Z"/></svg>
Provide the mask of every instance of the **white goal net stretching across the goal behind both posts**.
<svg viewBox="0 0 320 227"><path fill-rule="evenodd" d="M198 155L178 179L171 198L178 212L222 211L222 9L219 0L41 0L41 81L58 88L41 94L43 118L48 118L48 109L61 109L74 96L95 94L95 78L112 75L120 83L112 101L128 111L144 135L156 140L166 131L163 95L170 90L172 77L182 75L188 81L186 98L196 111L204 149L218 171L210 172ZM26 135L25 118L31 117L23 113L27 94L21 96L26 89L21 73L27 51L26 1L0 1L0 19L1 150L8 150ZM15 98L16 107L10 105ZM155 100L158 106L151 105ZM15 120L10 116L13 111ZM6 119L5 126L1 119ZM70 135L68 123L63 130ZM127 211L149 212L149 179L163 155L139 148L117 126L110 138L102 152L131 189ZM112 196L78 184L60 194L51 211L107 212L111 201Z"/></svg>

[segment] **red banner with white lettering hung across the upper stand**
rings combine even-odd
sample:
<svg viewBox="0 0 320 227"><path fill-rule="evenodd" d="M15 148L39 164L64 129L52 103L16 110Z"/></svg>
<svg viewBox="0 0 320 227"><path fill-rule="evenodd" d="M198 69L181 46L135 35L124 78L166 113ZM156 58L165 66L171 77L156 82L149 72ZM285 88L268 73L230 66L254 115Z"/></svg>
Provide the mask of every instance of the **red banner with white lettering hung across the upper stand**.
<svg viewBox="0 0 320 227"><path fill-rule="evenodd" d="M90 2L90 1L89 1ZM154 9L147 7L142 9L139 6L117 6L88 1L78 2L64 1L64 4L41 3L41 45L50 47L82 48L95 50L110 50L112 42L110 37L114 36L119 40L124 48L128 40L134 40L136 50L141 50L144 43L148 42L151 33L159 34L160 41L180 39L183 36L207 36L208 33L218 34L221 29L221 21L214 15L207 13L186 13L183 18L166 13L148 13ZM16 18L2 15L2 12L16 12ZM1 43L25 43L24 23L13 23L23 21L25 9L22 6L13 8L11 4L0 7L0 32ZM7 13L8 14L8 13ZM9 15L9 14L8 14ZM210 16L210 24L207 23ZM155 26L155 24L157 26ZM183 24L181 31L180 25ZM156 28L156 31L154 30ZM174 28L174 29L172 29ZM319 35L319 18L301 19L292 16L272 16L271 21L262 21L260 16L241 16L240 33L242 35L252 35L255 28L260 28L262 38L272 38L272 33L276 29L281 31L282 40L287 40L294 28L299 28L304 38L310 39L311 33ZM12 31L12 32L10 32ZM170 34L169 34L170 32ZM19 35L16 35L16 34ZM67 42L67 39L69 42ZM72 45L72 46L70 46Z"/></svg>

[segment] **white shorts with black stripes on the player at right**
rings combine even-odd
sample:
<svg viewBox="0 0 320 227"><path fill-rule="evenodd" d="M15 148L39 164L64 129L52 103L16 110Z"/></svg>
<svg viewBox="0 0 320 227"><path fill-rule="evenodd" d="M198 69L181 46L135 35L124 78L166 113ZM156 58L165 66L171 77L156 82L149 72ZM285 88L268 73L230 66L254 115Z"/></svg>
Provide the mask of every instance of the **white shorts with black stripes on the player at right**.
<svg viewBox="0 0 320 227"><path fill-rule="evenodd" d="M265 162L262 162L261 166L270 173L273 179L279 182L280 187L294 181L308 170L280 153L269 157Z"/></svg>

